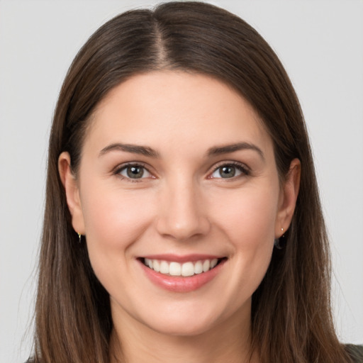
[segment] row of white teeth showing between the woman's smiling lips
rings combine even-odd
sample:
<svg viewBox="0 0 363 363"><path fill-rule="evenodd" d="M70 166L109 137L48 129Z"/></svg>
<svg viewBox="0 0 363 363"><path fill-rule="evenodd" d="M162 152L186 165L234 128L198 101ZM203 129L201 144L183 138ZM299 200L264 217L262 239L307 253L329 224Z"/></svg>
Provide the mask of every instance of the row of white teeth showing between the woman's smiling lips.
<svg viewBox="0 0 363 363"><path fill-rule="evenodd" d="M214 259L201 259L195 262L169 262L162 259L148 259L142 258L141 262L145 264L146 267L173 277L191 277L196 274L203 274L211 269L214 269L220 262L224 261L226 257L214 258Z"/></svg>

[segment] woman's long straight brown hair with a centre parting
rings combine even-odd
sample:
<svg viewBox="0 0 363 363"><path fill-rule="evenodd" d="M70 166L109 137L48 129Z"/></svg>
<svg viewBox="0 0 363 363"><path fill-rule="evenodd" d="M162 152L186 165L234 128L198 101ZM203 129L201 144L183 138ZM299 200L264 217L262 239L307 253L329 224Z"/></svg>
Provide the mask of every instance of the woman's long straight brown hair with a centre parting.
<svg viewBox="0 0 363 363"><path fill-rule="evenodd" d="M77 175L88 121L101 99L133 74L181 69L233 86L274 141L281 180L301 161L301 186L284 248L274 250L252 296L252 348L262 363L350 362L330 311L330 259L303 114L277 55L228 11L186 1L122 13L89 38L69 68L49 143L35 311L35 362L108 362L109 297L78 243L57 170L69 152Z"/></svg>

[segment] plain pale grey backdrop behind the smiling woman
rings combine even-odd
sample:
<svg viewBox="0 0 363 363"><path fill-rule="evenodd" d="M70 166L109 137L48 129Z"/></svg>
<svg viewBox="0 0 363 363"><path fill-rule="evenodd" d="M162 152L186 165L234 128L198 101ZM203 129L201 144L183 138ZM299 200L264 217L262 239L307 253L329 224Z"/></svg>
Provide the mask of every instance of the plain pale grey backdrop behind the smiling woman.
<svg viewBox="0 0 363 363"><path fill-rule="evenodd" d="M363 1L211 3L272 45L301 100L333 252L344 342L363 342ZM117 13L155 1L0 1L0 362L31 349L48 133L67 68Z"/></svg>

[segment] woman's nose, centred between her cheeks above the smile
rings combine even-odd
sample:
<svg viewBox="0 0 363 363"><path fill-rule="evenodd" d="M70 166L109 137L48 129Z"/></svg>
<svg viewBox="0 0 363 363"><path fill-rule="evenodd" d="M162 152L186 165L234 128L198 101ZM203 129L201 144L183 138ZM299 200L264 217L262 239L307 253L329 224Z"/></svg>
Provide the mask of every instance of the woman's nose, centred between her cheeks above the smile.
<svg viewBox="0 0 363 363"><path fill-rule="evenodd" d="M203 197L193 182L179 179L161 192L157 231L177 241L200 238L211 229L205 210Z"/></svg>

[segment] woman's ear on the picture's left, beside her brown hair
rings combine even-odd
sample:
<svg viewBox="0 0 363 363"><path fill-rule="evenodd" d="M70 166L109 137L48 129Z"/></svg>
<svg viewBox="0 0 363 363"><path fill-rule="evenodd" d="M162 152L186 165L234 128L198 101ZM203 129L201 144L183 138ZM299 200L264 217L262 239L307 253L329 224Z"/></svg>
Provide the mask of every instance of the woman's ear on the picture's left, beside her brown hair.
<svg viewBox="0 0 363 363"><path fill-rule="evenodd" d="M65 187L67 205L72 216L72 226L77 233L84 235L84 217L79 197L79 186L71 169L71 157L68 152L60 154L58 158L58 171L62 184Z"/></svg>

